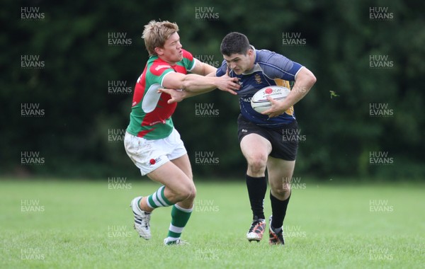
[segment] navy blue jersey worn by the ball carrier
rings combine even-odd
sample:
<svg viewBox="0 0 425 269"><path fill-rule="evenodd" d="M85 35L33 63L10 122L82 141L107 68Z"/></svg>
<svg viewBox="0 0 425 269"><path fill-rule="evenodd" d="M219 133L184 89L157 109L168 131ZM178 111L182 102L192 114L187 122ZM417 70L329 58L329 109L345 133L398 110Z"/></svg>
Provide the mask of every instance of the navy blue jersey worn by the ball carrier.
<svg viewBox="0 0 425 269"><path fill-rule="evenodd" d="M237 75L234 71L229 71L229 76L239 78L241 88L236 91L239 96L241 114L256 125L262 127L280 127L295 120L293 107L290 107L278 117L268 118L251 107L251 98L254 93L266 86L285 86L290 88L288 81L295 81L297 71L302 68L301 64L269 50L256 50L254 68L251 71ZM217 69L216 76L223 76L227 71L227 63L224 60L221 67Z"/></svg>

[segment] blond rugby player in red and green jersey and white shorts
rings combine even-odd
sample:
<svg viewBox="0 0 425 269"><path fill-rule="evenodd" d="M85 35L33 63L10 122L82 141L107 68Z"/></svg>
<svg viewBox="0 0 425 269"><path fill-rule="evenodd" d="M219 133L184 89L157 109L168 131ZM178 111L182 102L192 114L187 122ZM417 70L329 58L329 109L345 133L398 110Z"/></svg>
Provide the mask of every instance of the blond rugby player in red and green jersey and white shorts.
<svg viewBox="0 0 425 269"><path fill-rule="evenodd" d="M142 238L150 239L151 212L172 206L166 245L182 243L181 233L191 216L196 188L187 151L171 120L176 103L168 103L169 94L158 89L205 92L219 88L236 94L240 87L237 78L215 76L215 67L183 50L178 31L178 25L169 21L150 21L145 25L142 38L149 59L137 79L124 139L125 151L142 176L162 184L155 193L134 198L130 203L135 229Z"/></svg>

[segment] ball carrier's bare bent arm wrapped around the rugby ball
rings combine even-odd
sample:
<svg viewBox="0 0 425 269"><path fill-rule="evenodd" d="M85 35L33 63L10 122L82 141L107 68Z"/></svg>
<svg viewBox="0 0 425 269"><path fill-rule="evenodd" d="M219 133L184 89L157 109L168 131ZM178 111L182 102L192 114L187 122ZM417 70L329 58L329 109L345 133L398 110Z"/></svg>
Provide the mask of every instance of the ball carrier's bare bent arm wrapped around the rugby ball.
<svg viewBox="0 0 425 269"><path fill-rule="evenodd" d="M291 106L304 98L314 83L316 83L316 77L312 71L303 67L300 71L298 71L298 74L295 77L295 84L288 96L283 101L273 100L269 96L267 99L268 101L271 101L271 108L261 114L268 115L270 118L283 114Z"/></svg>

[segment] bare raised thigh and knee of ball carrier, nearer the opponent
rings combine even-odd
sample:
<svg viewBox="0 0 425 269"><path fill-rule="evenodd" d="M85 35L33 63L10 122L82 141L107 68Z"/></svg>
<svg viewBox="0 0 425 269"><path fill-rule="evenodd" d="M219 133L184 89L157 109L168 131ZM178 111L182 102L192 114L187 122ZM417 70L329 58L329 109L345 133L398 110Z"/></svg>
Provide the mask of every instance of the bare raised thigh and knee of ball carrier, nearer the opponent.
<svg viewBox="0 0 425 269"><path fill-rule="evenodd" d="M244 136L240 147L248 164L259 161L266 163L268 154L271 152L270 142L261 135L254 133Z"/></svg>

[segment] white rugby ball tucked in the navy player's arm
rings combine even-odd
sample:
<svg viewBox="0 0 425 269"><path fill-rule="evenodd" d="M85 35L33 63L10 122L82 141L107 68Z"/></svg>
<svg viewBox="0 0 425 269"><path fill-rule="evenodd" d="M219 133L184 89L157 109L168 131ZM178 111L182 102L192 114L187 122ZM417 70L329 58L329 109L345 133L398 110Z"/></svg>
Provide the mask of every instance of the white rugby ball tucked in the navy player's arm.
<svg viewBox="0 0 425 269"><path fill-rule="evenodd" d="M258 113L262 113L271 108L271 102L267 100L267 96L273 100L280 101L286 98L290 93L290 89L283 86L267 86L257 91L251 98L251 106Z"/></svg>

